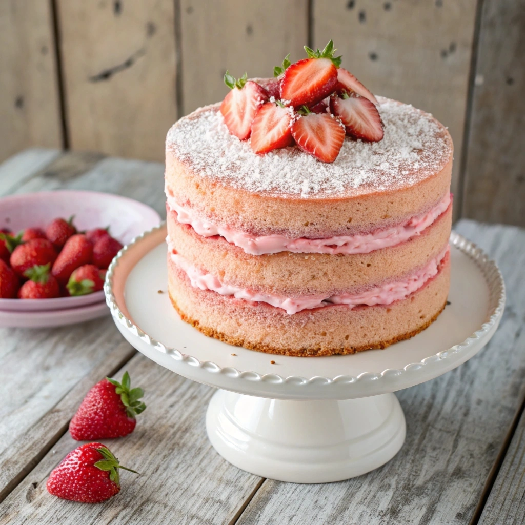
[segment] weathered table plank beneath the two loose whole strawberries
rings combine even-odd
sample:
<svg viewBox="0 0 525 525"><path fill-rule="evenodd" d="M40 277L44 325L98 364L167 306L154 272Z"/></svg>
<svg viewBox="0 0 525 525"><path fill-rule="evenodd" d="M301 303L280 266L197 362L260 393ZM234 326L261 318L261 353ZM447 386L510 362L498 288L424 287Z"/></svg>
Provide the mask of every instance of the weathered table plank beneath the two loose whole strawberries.
<svg viewBox="0 0 525 525"><path fill-rule="evenodd" d="M105 440L122 465L122 490L100 505L78 505L50 496L46 479L64 455L78 446L64 435L0 507L0 523L228 523L259 479L215 453L204 415L213 389L184 380L142 355L124 370L145 389L148 408L133 434Z"/></svg>

